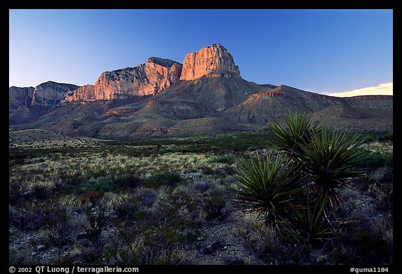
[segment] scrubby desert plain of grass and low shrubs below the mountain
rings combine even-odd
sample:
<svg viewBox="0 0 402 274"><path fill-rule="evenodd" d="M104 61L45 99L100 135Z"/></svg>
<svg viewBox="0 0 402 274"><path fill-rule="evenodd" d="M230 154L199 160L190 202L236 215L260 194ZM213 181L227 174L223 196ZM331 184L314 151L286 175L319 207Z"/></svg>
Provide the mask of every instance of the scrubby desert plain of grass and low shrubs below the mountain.
<svg viewBox="0 0 402 274"><path fill-rule="evenodd" d="M365 139L366 174L336 188L343 203L330 211L274 136L10 146L9 262L391 264L392 138ZM258 176L278 195L261 195Z"/></svg>

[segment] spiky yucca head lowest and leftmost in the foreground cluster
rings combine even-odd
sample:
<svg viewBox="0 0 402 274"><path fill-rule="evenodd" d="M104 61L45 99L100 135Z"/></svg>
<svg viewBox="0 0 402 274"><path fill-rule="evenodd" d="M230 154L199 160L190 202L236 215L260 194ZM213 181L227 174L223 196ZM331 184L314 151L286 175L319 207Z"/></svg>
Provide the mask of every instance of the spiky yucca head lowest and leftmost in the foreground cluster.
<svg viewBox="0 0 402 274"><path fill-rule="evenodd" d="M258 218L271 226L288 215L289 203L301 190L297 174L298 167L285 161L280 155L273 159L257 155L247 161L241 158L239 172L234 174L238 189L232 189L234 209L247 213L257 212Z"/></svg>

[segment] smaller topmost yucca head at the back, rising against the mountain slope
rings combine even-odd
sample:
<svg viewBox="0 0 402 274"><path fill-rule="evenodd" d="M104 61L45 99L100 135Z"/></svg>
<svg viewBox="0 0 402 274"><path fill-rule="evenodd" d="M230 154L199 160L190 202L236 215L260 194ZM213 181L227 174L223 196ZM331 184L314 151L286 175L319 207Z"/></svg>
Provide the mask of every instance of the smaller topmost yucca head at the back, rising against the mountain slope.
<svg viewBox="0 0 402 274"><path fill-rule="evenodd" d="M274 133L276 139L274 144L290 156L296 152L301 152L301 144L308 144L311 135L318 131L319 122L312 123L311 116L307 114L288 113L285 119L286 126L274 121L269 128Z"/></svg>

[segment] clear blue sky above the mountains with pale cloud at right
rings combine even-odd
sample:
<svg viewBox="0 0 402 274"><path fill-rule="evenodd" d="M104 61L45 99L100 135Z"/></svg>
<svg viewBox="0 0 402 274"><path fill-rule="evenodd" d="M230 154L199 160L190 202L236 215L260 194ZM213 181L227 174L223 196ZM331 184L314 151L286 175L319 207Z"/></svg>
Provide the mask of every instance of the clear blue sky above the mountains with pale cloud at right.
<svg viewBox="0 0 402 274"><path fill-rule="evenodd" d="M304 91L392 94L392 9L10 9L9 86L95 84L221 43L241 77ZM352 92L352 93L350 93Z"/></svg>

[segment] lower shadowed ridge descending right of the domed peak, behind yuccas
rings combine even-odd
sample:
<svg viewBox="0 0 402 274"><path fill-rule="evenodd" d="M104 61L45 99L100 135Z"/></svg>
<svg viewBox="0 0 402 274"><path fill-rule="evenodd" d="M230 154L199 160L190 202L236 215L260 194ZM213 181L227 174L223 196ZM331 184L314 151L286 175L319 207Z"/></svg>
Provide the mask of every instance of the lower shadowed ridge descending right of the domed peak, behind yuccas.
<svg viewBox="0 0 402 274"><path fill-rule="evenodd" d="M234 123L267 124L288 112L312 114L330 126L349 125L367 130L392 130L393 96L338 98L281 85L267 93L255 93L228 109L223 117Z"/></svg>

